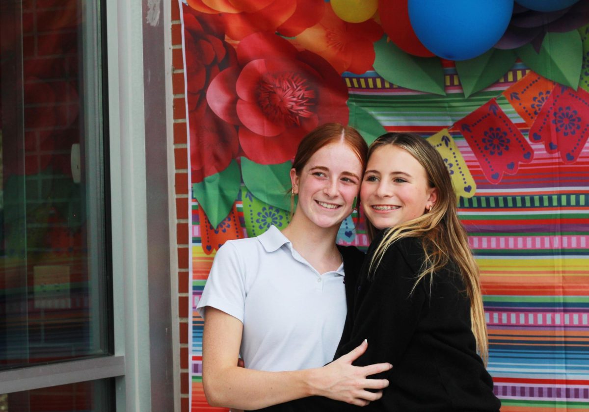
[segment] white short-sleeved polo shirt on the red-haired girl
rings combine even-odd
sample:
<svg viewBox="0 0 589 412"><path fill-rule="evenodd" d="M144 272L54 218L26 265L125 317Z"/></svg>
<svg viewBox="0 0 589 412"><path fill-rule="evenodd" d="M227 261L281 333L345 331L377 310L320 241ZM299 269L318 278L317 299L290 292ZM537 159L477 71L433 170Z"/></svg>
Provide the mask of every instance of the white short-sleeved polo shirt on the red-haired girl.
<svg viewBox="0 0 589 412"><path fill-rule="evenodd" d="M247 368L283 371L333 360L346 318L343 264L319 274L276 227L227 241L215 256L197 310L217 308L243 323Z"/></svg>

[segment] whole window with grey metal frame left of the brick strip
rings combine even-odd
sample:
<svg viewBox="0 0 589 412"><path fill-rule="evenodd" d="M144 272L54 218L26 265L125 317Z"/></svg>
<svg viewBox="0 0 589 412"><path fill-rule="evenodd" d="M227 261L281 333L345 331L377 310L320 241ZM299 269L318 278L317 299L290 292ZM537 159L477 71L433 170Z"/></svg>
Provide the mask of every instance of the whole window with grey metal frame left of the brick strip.
<svg viewBox="0 0 589 412"><path fill-rule="evenodd" d="M179 407L166 7L0 1L0 410Z"/></svg>

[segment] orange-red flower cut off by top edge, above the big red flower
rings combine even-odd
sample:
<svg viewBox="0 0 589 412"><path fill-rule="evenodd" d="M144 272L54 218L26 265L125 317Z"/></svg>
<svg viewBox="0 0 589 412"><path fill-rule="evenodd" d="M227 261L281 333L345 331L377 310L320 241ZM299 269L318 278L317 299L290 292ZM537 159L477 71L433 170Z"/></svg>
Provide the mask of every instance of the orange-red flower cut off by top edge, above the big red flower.
<svg viewBox="0 0 589 412"><path fill-rule="evenodd" d="M324 0L188 0L188 5L221 14L226 34L234 40L261 31L296 36L316 24L325 9Z"/></svg>

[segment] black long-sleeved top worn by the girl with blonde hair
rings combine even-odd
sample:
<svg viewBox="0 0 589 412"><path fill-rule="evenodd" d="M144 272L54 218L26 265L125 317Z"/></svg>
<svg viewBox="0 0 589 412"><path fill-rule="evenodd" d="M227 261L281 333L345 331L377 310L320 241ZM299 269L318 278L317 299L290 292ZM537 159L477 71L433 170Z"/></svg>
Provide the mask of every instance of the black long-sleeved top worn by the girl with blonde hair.
<svg viewBox="0 0 589 412"><path fill-rule="evenodd" d="M424 255L417 238L404 238L389 247L369 278L370 258L381 237L372 242L353 288L346 271L348 317L335 358L367 338L368 349L354 364L393 364L375 376L390 381L383 397L361 409L309 397L265 410L498 411L491 376L476 351L461 276L447 267L434 274L431 284L426 278L413 289Z"/></svg>

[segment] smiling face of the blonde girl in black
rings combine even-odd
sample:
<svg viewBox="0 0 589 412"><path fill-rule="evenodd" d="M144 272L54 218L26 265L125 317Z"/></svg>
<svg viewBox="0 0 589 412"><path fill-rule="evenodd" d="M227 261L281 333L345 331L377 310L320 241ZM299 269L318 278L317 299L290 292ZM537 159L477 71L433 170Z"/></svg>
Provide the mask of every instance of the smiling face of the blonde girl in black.
<svg viewBox="0 0 589 412"><path fill-rule="evenodd" d="M372 152L360 198L375 228L393 227L421 216L436 197L425 168L405 149L388 144Z"/></svg>

